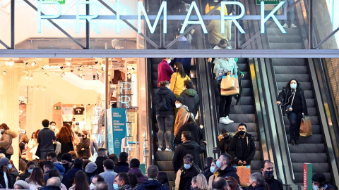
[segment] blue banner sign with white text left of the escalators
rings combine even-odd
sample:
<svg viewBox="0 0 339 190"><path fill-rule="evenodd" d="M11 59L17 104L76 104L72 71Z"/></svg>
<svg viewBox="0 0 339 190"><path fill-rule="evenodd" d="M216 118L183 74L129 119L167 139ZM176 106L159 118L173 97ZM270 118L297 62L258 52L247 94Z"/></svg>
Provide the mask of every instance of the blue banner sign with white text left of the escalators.
<svg viewBox="0 0 339 190"><path fill-rule="evenodd" d="M107 115L111 118L107 119L107 136L109 153L119 155L121 152L121 141L126 137L126 109L110 108L107 110ZM110 135L112 134L112 135Z"/></svg>

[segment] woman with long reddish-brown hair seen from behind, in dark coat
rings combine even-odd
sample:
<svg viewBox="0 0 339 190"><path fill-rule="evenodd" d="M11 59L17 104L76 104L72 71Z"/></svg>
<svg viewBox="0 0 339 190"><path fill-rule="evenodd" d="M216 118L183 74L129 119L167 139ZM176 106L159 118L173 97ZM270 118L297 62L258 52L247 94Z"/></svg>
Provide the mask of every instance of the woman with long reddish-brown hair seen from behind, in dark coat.
<svg viewBox="0 0 339 190"><path fill-rule="evenodd" d="M61 143L61 151L60 157L64 153L68 153L69 151L74 151L73 147L73 136L69 129L66 126L61 127L60 132L57 134L57 141Z"/></svg>

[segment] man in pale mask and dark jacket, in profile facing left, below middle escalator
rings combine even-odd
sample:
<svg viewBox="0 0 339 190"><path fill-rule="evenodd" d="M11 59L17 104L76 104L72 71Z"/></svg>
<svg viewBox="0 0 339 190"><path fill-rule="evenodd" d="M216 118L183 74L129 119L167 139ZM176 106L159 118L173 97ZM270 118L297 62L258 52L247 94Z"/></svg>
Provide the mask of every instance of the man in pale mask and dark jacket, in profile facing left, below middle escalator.
<svg viewBox="0 0 339 190"><path fill-rule="evenodd" d="M237 175L237 168L233 167L231 163L231 156L227 153L223 153L219 159L217 160L217 167L219 175L218 177L234 177L237 180L238 184L240 184L239 176Z"/></svg>

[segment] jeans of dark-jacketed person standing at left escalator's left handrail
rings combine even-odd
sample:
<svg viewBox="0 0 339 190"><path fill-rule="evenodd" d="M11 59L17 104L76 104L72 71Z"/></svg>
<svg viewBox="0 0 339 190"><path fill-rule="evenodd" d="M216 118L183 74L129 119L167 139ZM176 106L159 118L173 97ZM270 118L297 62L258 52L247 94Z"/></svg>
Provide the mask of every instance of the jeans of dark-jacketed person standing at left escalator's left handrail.
<svg viewBox="0 0 339 190"><path fill-rule="evenodd" d="M172 125L174 121L174 115L157 114L156 118L157 126L159 127L159 131L157 132L157 141L159 143L159 146L163 147L164 133L166 146L169 146L172 137Z"/></svg>

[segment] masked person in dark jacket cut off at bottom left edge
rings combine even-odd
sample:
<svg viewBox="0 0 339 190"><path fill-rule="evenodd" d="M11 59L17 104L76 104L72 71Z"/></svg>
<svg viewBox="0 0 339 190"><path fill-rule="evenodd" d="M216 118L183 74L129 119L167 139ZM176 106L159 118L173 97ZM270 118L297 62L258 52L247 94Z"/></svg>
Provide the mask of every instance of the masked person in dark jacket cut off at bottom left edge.
<svg viewBox="0 0 339 190"><path fill-rule="evenodd" d="M0 189L13 189L16 178L9 175L9 170L11 170L12 167L8 158L0 159Z"/></svg>

